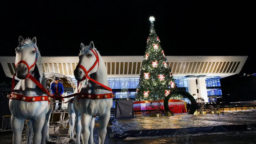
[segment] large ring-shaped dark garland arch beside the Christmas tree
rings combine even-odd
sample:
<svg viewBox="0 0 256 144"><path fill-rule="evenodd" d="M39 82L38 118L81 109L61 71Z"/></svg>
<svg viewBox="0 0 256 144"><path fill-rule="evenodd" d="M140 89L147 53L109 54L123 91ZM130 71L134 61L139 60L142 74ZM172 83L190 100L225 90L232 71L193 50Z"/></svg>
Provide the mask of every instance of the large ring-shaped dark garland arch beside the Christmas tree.
<svg viewBox="0 0 256 144"><path fill-rule="evenodd" d="M184 92L184 91L175 91L175 92L171 92L165 99L164 99L164 110L165 111L169 111L172 116L173 116L173 113L171 112L171 110L169 109L168 105L169 105L169 100L170 98L172 97L172 95L174 94L180 94L180 95L183 95L183 98L188 98L191 102L191 110L189 111L188 114L194 114L195 111L196 111L196 108L197 108L197 103L196 103L196 100L195 98L190 95L190 93L188 92Z"/></svg>

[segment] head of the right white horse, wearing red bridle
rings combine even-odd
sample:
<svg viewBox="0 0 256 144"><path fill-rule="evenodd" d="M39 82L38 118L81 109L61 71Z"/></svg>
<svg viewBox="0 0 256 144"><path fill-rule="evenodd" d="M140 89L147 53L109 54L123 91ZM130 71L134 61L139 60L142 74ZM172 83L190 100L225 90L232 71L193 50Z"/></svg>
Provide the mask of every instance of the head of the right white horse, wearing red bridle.
<svg viewBox="0 0 256 144"><path fill-rule="evenodd" d="M79 53L79 62L74 70L76 80L83 81L86 76L97 72L99 68L99 54L91 41L89 46L81 43L81 51Z"/></svg>

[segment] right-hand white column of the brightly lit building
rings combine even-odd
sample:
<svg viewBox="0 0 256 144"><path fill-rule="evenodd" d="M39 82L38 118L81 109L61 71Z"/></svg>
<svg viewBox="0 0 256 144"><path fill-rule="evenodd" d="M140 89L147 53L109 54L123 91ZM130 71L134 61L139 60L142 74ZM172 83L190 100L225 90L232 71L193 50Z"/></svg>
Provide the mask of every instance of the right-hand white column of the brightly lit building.
<svg viewBox="0 0 256 144"><path fill-rule="evenodd" d="M208 102L207 89L205 84L206 77L199 77L197 79L197 87L198 87L198 98L203 98L204 102Z"/></svg>

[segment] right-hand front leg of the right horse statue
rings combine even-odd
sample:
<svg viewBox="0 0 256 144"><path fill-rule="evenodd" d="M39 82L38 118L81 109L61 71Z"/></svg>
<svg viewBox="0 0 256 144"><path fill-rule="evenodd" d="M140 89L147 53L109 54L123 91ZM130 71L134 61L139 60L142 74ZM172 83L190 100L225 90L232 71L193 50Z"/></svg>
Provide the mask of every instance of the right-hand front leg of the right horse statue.
<svg viewBox="0 0 256 144"><path fill-rule="evenodd" d="M99 123L100 123L100 128L99 128L99 144L104 144L105 137L107 134L107 126L108 126L108 121L110 118L110 110L108 113L99 116Z"/></svg>

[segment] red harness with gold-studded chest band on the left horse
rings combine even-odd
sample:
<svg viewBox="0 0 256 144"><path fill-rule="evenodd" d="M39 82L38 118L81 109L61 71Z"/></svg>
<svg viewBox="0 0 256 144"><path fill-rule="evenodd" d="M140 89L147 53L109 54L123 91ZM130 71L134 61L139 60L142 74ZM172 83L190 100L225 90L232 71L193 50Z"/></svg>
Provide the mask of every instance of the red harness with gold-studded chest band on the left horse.
<svg viewBox="0 0 256 144"><path fill-rule="evenodd" d="M34 48L36 50L35 46L34 46ZM49 94L48 90L46 90L42 84L40 84L32 75L29 74L30 69L35 66L36 60L30 67L28 66L28 63L25 60L20 60L17 64L16 63L14 63L14 64L15 64L15 66L17 66L20 63L24 63L28 68L28 75L26 76L25 79L29 78L30 80L32 80L41 90L43 90L47 94L47 96L28 97L28 96L25 96L25 95L12 93L12 91L14 89L14 84L15 84L15 74L13 74L11 94L7 95L7 97L9 99L11 99L11 100L21 100L21 101L27 101L27 102L48 101L48 104L50 104L51 97L50 97L50 94Z"/></svg>

